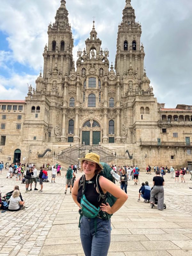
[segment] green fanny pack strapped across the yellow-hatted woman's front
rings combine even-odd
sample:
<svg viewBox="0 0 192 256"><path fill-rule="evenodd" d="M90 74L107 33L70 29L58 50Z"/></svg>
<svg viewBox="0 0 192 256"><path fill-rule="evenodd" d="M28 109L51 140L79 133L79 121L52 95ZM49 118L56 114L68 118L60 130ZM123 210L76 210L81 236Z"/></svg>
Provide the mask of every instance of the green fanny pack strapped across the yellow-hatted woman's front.
<svg viewBox="0 0 192 256"><path fill-rule="evenodd" d="M85 195L81 198L81 205L80 205L81 211L83 215L87 218L95 218L97 217L100 207L95 207L93 204L91 204L89 201L87 201Z"/></svg>

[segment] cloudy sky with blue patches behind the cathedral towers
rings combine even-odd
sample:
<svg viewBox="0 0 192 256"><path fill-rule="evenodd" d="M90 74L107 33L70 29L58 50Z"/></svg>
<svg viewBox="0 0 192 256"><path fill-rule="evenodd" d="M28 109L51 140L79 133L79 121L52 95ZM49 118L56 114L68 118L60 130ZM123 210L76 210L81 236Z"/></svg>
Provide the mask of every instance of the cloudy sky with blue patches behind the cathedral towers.
<svg viewBox="0 0 192 256"><path fill-rule="evenodd" d="M192 1L132 0L136 22L142 26L147 76L157 102L165 108L192 105ZM60 0L0 0L0 99L24 100L28 84L43 67L47 28L55 22ZM115 63L118 24L125 0L66 0L74 36L73 56L84 49L95 29L102 48Z"/></svg>

